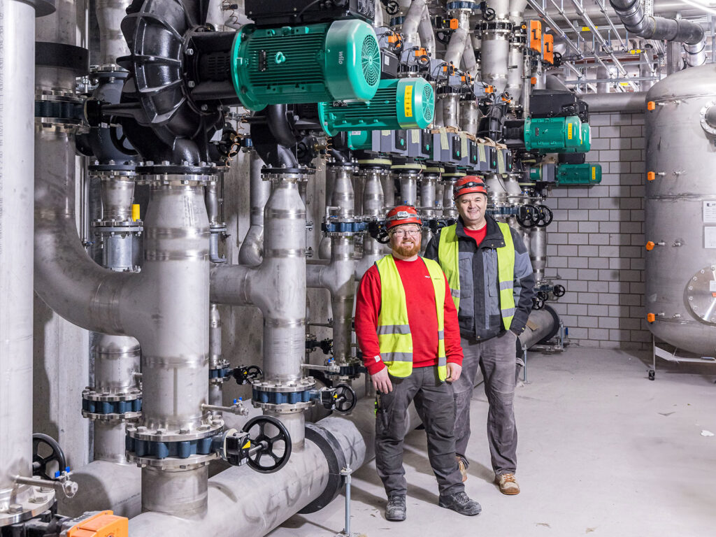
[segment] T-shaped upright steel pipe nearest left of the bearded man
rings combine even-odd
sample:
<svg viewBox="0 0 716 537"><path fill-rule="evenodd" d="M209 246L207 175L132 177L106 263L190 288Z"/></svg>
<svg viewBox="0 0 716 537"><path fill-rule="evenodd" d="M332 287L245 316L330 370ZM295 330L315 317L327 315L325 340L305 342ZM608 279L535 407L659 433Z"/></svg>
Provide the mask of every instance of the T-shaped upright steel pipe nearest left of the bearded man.
<svg viewBox="0 0 716 537"><path fill-rule="evenodd" d="M273 191L263 216L263 261L257 267L212 266L211 301L261 309L263 379L286 384L303 377L306 352L306 208L297 176L282 174L271 180ZM304 443L303 412L276 417L289 429L298 453Z"/></svg>

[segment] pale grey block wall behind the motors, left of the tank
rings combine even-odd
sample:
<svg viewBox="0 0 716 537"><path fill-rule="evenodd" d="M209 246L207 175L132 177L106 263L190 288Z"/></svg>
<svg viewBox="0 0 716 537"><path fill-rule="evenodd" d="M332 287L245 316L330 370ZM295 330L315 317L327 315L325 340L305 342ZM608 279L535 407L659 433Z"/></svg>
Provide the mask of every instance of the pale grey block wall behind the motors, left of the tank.
<svg viewBox="0 0 716 537"><path fill-rule="evenodd" d="M647 348L644 320L644 115L591 114L600 185L554 188L546 276L567 293L551 305L573 344Z"/></svg>

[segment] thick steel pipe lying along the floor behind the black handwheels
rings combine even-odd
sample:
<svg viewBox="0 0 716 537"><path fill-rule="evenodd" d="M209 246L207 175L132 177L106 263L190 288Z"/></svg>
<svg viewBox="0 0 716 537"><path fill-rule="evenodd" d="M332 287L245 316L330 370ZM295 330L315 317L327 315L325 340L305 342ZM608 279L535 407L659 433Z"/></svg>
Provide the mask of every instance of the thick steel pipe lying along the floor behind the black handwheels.
<svg viewBox="0 0 716 537"><path fill-rule="evenodd" d="M229 468L209 480L209 511L186 520L142 513L130 521L132 537L263 537L304 508L319 501L329 485L340 485L326 455L357 470L374 457L375 415L372 397L359 401L349 419L326 417L314 427L328 440L306 441L276 473L259 474L246 466ZM406 431L420 424L411 405ZM321 447L319 447L319 444ZM327 444L332 447L329 448ZM330 498L329 498L330 499Z"/></svg>

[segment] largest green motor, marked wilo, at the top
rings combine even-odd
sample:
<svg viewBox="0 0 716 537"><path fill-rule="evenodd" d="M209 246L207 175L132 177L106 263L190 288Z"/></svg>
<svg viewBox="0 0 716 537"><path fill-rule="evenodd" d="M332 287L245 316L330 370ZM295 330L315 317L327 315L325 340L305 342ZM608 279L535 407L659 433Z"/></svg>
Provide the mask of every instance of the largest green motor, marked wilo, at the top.
<svg viewBox="0 0 716 537"><path fill-rule="evenodd" d="M231 80L248 110L345 99L367 101L380 81L380 47L367 22L281 28L242 26L231 48Z"/></svg>

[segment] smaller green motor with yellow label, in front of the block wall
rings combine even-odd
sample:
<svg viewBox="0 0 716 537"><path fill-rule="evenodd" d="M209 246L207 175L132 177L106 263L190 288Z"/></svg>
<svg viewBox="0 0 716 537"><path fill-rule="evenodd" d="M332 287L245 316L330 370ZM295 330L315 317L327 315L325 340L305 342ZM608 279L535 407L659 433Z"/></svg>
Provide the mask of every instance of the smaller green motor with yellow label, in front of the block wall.
<svg viewBox="0 0 716 537"><path fill-rule="evenodd" d="M585 151L582 122L578 116L529 117L525 120L525 147L541 153Z"/></svg>

